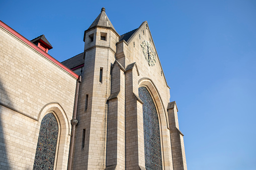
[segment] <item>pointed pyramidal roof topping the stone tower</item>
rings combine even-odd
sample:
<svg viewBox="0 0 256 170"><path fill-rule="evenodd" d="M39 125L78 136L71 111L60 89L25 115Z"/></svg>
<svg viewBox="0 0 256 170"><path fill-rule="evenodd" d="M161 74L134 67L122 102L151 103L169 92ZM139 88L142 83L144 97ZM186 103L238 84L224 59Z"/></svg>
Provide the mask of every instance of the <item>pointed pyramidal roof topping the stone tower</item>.
<svg viewBox="0 0 256 170"><path fill-rule="evenodd" d="M106 15L105 13L105 8L102 8L101 9L101 14L95 19L95 21L93 22L93 24L89 27L88 30L90 30L91 28L93 27L96 27L96 26L100 26L100 27L108 27L108 28L112 28L113 30L114 27L113 25L111 24L108 16ZM116 31L116 30L115 30Z"/></svg>

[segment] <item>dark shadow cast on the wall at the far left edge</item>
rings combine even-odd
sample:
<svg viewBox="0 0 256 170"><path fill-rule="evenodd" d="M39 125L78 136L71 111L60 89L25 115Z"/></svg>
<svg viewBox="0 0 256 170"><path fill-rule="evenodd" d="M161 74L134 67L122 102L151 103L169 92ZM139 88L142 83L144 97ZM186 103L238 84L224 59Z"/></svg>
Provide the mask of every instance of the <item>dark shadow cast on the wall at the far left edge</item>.
<svg viewBox="0 0 256 170"><path fill-rule="evenodd" d="M5 123L3 121L3 110L6 110L8 108L4 105L13 107L13 103L10 101L8 94L0 79L0 169L10 169L10 160L7 153L5 134L5 128L7 127L5 127Z"/></svg>

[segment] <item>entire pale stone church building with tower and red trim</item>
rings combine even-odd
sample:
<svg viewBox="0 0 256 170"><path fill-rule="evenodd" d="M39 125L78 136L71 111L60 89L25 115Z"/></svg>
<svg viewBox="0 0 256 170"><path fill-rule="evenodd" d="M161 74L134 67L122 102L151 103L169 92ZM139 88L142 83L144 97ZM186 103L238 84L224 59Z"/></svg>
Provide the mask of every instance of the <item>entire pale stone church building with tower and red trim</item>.
<svg viewBox="0 0 256 170"><path fill-rule="evenodd" d="M120 36L102 8L83 41L60 63L0 21L0 169L187 169L148 23Z"/></svg>

